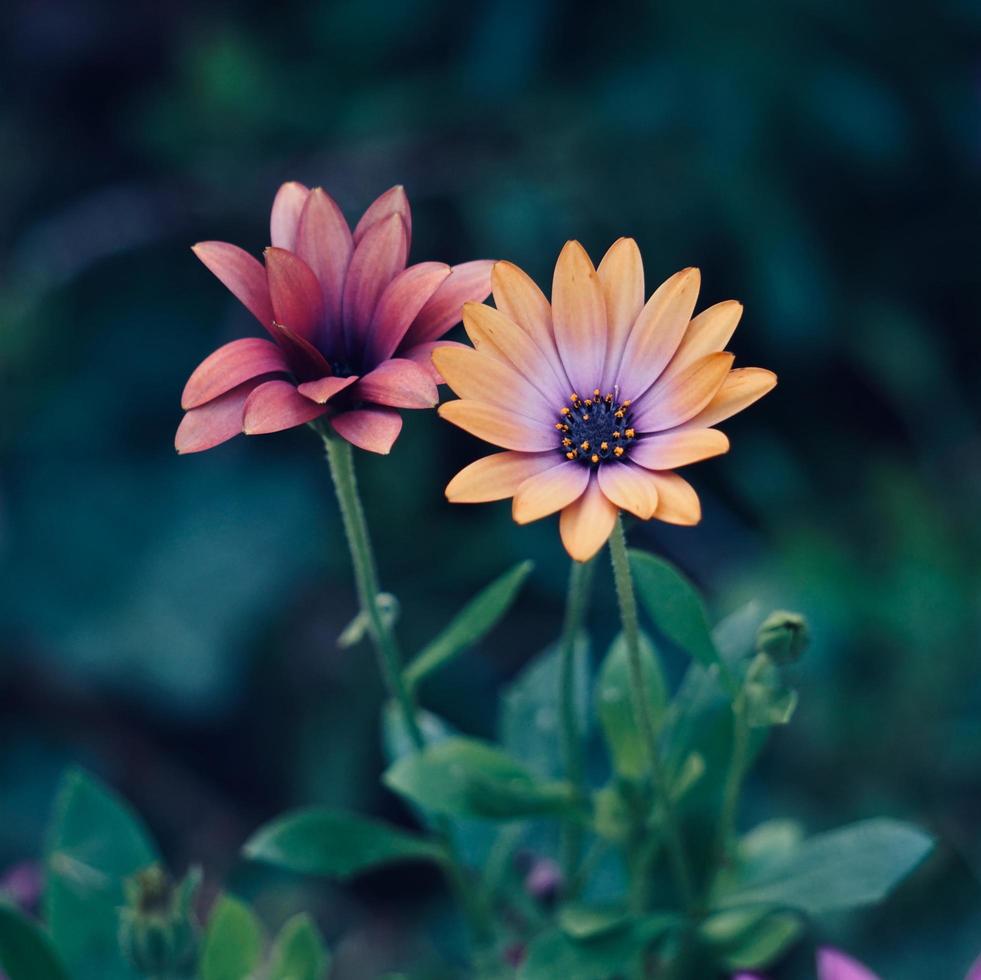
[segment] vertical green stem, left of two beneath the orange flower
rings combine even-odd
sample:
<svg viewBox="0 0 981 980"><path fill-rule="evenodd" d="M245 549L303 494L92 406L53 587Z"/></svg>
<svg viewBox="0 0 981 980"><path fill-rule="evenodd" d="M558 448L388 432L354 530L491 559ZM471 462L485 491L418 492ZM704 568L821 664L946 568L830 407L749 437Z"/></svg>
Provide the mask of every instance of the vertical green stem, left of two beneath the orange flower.
<svg viewBox="0 0 981 980"><path fill-rule="evenodd" d="M569 571L569 591L566 598L565 622L559 661L559 721L562 742L562 761L576 799L586 798L586 771L583 759L582 733L576 718L576 639L582 629L589 605L590 586L593 580L592 562L572 562ZM578 818L563 821L560 852L562 877L566 893L571 894L577 881L579 857L582 852L582 825Z"/></svg>

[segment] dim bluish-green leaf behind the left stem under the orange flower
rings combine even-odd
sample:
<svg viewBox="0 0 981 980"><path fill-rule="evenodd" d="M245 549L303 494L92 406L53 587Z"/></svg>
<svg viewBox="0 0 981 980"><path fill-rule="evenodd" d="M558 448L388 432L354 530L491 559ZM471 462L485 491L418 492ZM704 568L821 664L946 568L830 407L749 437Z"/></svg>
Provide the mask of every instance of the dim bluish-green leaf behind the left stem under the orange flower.
<svg viewBox="0 0 981 980"><path fill-rule="evenodd" d="M576 637L572 656L576 724L589 731L589 640ZM501 743L539 776L565 772L559 737L559 675L562 651L557 644L535 657L508 686L501 699Z"/></svg>

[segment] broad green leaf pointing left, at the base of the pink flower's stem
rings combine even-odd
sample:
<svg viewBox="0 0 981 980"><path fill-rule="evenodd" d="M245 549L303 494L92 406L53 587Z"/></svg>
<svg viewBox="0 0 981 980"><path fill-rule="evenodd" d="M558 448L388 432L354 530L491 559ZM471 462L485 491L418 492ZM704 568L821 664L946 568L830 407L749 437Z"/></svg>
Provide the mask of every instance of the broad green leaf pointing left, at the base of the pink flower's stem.
<svg viewBox="0 0 981 980"><path fill-rule="evenodd" d="M454 736L388 768L385 784L413 803L451 817L508 820L568 810L567 783L541 782L501 749Z"/></svg>

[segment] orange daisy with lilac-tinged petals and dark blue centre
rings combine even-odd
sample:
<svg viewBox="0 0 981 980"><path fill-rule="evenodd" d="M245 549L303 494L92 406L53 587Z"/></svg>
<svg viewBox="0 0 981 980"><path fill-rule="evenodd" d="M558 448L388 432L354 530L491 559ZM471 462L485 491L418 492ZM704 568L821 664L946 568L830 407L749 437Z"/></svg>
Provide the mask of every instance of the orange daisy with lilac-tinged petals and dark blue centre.
<svg viewBox="0 0 981 980"><path fill-rule="evenodd" d="M513 497L519 524L561 511L562 542L587 561L617 514L697 524L698 495L679 466L729 448L718 422L777 383L732 369L724 348L742 306L728 300L692 319L697 269L676 273L644 303L637 243L621 238L593 267L578 242L555 265L552 303L519 268L498 262L497 309L463 308L476 350L443 348L433 362L460 396L443 418L507 452L461 470L453 503Z"/></svg>

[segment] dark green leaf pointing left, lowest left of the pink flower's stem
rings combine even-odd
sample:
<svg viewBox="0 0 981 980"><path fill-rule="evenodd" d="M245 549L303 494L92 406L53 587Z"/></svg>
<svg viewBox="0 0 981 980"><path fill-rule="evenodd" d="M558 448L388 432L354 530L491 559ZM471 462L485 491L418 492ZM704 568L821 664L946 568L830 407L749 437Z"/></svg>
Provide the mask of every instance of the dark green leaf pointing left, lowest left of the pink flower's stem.
<svg viewBox="0 0 981 980"><path fill-rule="evenodd" d="M440 850L414 834L328 807L283 814L255 833L245 856L298 874L350 878L401 861L439 861Z"/></svg>

